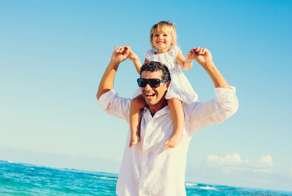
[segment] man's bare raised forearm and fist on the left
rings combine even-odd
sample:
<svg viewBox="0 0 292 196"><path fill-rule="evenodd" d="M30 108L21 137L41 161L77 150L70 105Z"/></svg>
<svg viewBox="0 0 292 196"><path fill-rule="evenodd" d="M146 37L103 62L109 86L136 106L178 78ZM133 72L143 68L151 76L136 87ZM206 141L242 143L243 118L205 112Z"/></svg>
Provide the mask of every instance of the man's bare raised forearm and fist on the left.
<svg viewBox="0 0 292 196"><path fill-rule="evenodd" d="M127 59L130 47L116 46L114 52L111 54L110 63L101 78L98 91L96 94L97 100L101 95L113 89L113 79L121 62Z"/></svg>

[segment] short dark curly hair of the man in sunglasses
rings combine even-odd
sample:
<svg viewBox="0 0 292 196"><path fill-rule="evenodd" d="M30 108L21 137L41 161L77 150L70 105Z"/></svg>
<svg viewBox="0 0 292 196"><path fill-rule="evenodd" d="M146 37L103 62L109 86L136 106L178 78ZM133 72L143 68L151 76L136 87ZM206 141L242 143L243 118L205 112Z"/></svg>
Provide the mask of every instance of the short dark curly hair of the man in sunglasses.
<svg viewBox="0 0 292 196"><path fill-rule="evenodd" d="M170 81L170 73L166 65L162 64L161 62L150 61L149 63L145 63L141 67L140 75L142 75L142 71L161 71L161 79ZM141 77L141 76L140 76Z"/></svg>

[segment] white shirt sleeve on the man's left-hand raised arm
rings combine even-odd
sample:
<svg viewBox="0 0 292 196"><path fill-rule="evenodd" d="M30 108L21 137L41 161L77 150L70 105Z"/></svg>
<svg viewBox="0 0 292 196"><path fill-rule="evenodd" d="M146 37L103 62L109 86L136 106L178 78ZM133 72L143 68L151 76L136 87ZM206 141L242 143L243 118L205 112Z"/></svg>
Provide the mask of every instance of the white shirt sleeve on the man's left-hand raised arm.
<svg viewBox="0 0 292 196"><path fill-rule="evenodd" d="M99 105L108 114L120 119L125 119L129 123L130 102L129 98L119 97L113 89L99 97Z"/></svg>

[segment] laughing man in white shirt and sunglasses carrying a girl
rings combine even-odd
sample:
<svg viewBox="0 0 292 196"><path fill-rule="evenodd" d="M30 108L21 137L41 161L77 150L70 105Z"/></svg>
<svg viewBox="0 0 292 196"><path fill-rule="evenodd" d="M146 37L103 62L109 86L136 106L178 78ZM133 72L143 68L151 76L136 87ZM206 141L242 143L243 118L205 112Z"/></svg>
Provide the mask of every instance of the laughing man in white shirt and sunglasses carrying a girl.
<svg viewBox="0 0 292 196"><path fill-rule="evenodd" d="M125 119L127 123L130 99L118 96L113 90L113 79L129 51L128 46L115 48L96 95L104 110ZM169 71L159 62L143 65L138 84L148 107L141 115L140 142L133 148L125 147L116 187L118 196L185 196L186 154L194 133L205 125L221 123L237 111L235 88L228 85L215 67L211 53L199 47L193 48L190 53L211 77L217 99L190 105L183 103L183 142L176 148L168 148L164 142L174 131L170 109L164 99L169 85ZM129 136L128 132L127 143Z"/></svg>

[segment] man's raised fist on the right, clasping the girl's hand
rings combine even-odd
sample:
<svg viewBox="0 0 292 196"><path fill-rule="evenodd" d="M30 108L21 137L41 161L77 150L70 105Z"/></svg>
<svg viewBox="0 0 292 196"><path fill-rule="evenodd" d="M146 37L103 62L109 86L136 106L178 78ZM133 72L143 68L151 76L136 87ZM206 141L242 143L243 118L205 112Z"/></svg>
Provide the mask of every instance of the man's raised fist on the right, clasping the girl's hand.
<svg viewBox="0 0 292 196"><path fill-rule="evenodd" d="M186 55L187 60L196 60L202 67L208 63L213 63L212 54L206 48L193 48Z"/></svg>

